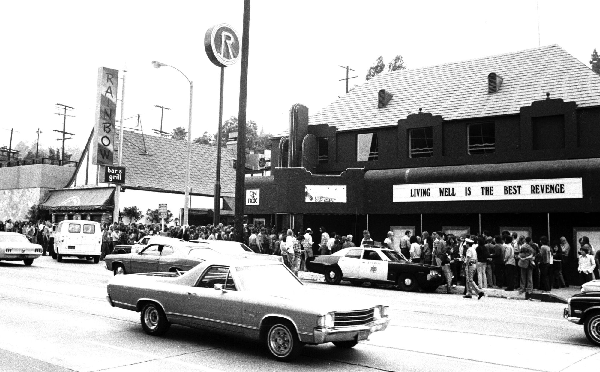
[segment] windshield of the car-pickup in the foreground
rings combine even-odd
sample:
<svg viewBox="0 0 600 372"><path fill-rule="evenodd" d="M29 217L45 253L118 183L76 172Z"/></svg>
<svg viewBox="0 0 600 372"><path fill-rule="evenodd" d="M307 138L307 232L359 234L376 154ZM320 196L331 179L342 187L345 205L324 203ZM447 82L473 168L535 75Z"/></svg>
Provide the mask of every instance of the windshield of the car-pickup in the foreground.
<svg viewBox="0 0 600 372"><path fill-rule="evenodd" d="M304 286L294 274L283 265L260 265L237 267L238 280L244 291L260 289L284 289L293 291Z"/></svg>

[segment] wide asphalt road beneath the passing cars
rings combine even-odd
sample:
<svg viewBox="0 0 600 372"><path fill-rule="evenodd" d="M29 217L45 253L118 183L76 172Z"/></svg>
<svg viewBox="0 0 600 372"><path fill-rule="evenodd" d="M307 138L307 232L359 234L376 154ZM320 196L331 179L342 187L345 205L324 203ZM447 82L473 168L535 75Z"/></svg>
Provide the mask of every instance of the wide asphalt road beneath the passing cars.
<svg viewBox="0 0 600 372"><path fill-rule="evenodd" d="M172 326L146 335L139 313L110 307L103 262L0 262L0 371L593 371L600 348L563 320L565 305L306 282L385 297L391 324L350 350L306 346L282 363L247 341ZM268 283L266 283L268 284Z"/></svg>

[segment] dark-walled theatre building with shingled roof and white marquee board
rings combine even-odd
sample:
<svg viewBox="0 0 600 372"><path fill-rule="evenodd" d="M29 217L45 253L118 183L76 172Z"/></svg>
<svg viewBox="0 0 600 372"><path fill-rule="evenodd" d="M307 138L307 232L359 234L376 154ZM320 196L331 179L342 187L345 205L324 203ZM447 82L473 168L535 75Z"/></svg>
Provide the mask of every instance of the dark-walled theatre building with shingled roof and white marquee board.
<svg viewBox="0 0 600 372"><path fill-rule="evenodd" d="M508 229L600 247L599 143L600 75L560 46L387 72L310 116L293 105L244 211L313 240Z"/></svg>

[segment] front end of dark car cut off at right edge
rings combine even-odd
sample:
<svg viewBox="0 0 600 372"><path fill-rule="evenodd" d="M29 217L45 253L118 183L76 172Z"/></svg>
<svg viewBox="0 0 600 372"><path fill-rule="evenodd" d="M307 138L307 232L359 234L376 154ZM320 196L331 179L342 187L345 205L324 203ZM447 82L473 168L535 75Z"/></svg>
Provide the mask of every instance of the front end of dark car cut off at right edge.
<svg viewBox="0 0 600 372"><path fill-rule="evenodd" d="M563 317L569 322L583 324L590 343L600 346L600 292L583 292L569 298Z"/></svg>

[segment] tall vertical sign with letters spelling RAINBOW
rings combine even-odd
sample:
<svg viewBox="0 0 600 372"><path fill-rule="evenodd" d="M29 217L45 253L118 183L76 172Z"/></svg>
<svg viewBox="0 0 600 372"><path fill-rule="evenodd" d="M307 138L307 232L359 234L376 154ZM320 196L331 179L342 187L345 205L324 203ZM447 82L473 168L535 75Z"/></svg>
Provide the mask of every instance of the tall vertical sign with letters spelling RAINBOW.
<svg viewBox="0 0 600 372"><path fill-rule="evenodd" d="M115 155L116 91L119 71L98 68L98 93L94 124L92 164L112 165Z"/></svg>

